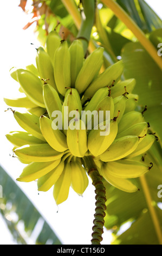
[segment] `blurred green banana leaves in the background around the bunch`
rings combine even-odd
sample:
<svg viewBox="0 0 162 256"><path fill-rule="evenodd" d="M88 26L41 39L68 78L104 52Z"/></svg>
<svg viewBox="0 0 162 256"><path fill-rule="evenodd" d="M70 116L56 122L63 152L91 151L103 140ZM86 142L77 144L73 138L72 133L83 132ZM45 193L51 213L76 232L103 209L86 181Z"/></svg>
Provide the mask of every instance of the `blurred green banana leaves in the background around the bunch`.
<svg viewBox="0 0 162 256"><path fill-rule="evenodd" d="M82 2L79 0L33 0L31 11L33 17L23 29L36 23L35 35L38 41L46 47L48 33L56 28L70 45L79 33L84 14ZM128 28L129 24L121 21L122 19L119 19L114 11L107 7L108 2L108 0L96 1L95 20L87 54L96 47L103 46L105 48L103 69L118 62L119 59L123 60L124 76L122 79L135 78L137 81L133 90L134 94L139 95L137 110L141 112L147 106L144 115L146 121L150 123L150 132L155 133L157 141L141 160L152 162L153 168L146 175L134 180L138 182L140 188L138 192L126 193L105 182L107 196L105 227L114 235L113 244L162 244L162 193L161 197L158 197L158 185L162 184L162 65L160 64L162 58L159 56L159 63L155 61L153 58L155 56L152 57L147 50L147 44L144 47L138 36L135 36ZM116 0L114 2L120 8L119 15L121 17L123 13L128 15L131 22L134 22L134 26L138 27L139 34L142 34L149 44L151 43L157 54L158 44L162 42L160 17L144 0ZM23 9L24 15L31 15L30 11L25 8L26 4L27 0L21 0L19 7ZM18 242L25 243L25 239L18 233L17 223L9 224L5 216L14 210L18 221L23 220L24 229L29 235L38 220L43 217L13 183L9 175L4 170L1 173L0 184L5 187L1 214ZM24 200L20 201L19 197ZM8 202L11 202L10 210L7 208ZM26 209L32 212L30 216L29 211L23 212L21 208L24 202ZM61 243L48 223L44 221L36 242L45 244L48 239L51 239L54 244Z"/></svg>

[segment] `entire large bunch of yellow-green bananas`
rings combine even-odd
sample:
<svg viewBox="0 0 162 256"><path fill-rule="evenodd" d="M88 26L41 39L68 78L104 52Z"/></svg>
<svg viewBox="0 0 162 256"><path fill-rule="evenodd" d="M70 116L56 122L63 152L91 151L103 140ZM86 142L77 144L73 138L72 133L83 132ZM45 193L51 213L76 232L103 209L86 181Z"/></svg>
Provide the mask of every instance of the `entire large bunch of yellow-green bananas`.
<svg viewBox="0 0 162 256"><path fill-rule="evenodd" d="M24 130L6 135L17 159L26 164L17 180L37 180L38 191L53 187L61 204L70 187L79 195L86 190L83 160L89 156L109 184L137 191L134 179L152 167L137 157L151 148L155 136L144 112L135 110L134 78L121 80L122 60L100 72L103 47L85 58L80 40L69 46L54 31L46 48L37 49L36 66L10 70L23 94L4 99Z"/></svg>

